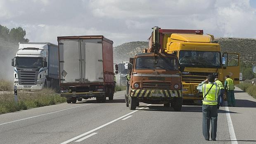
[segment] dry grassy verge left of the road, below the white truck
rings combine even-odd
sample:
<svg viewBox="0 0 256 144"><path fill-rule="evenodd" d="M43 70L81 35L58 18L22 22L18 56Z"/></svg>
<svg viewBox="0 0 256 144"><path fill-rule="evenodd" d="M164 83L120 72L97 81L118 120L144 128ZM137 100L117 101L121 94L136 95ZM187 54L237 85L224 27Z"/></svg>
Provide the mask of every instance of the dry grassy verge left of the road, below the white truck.
<svg viewBox="0 0 256 144"><path fill-rule="evenodd" d="M26 110L40 106L48 106L66 102L52 89L43 89L36 92L18 91L18 103L14 102L14 93L0 93L0 114Z"/></svg>

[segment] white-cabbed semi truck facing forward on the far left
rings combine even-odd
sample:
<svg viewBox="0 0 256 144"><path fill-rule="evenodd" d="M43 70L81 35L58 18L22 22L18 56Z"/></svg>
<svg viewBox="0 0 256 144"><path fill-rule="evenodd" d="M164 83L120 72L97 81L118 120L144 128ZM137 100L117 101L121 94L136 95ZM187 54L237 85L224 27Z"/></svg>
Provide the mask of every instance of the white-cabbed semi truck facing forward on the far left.
<svg viewBox="0 0 256 144"><path fill-rule="evenodd" d="M58 45L49 42L19 42L12 59L14 85L18 90L59 90Z"/></svg>

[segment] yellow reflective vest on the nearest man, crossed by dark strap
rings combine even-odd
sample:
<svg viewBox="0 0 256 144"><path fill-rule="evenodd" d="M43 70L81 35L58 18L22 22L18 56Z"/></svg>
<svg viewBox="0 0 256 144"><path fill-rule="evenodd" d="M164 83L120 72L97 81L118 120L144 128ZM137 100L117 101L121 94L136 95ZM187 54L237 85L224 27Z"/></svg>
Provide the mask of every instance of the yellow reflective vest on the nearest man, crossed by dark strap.
<svg viewBox="0 0 256 144"><path fill-rule="evenodd" d="M203 104L206 104L206 105L218 104L218 92L220 88L217 85L213 85L213 87L211 87L212 85L213 84L203 84L203 96L205 96L205 94L211 88L211 90L208 92L206 97L204 97Z"/></svg>

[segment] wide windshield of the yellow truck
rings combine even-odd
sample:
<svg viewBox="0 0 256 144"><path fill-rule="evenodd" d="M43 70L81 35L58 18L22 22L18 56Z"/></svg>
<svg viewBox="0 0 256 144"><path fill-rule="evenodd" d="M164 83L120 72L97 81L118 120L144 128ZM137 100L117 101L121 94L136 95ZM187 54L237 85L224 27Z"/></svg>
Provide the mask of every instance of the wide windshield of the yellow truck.
<svg viewBox="0 0 256 144"><path fill-rule="evenodd" d="M220 52L179 52L179 63L186 67L220 68Z"/></svg>

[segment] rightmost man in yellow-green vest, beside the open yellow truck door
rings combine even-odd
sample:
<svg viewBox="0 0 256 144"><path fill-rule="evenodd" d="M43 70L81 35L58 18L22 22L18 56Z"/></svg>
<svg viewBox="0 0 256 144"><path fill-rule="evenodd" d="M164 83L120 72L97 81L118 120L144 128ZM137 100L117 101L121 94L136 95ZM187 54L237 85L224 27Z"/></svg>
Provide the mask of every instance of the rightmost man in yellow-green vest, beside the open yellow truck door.
<svg viewBox="0 0 256 144"><path fill-rule="evenodd" d="M228 106L235 106L234 81L229 76L225 76L225 79L224 88L227 90Z"/></svg>

